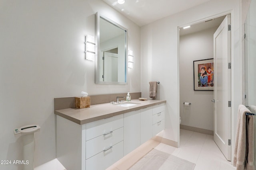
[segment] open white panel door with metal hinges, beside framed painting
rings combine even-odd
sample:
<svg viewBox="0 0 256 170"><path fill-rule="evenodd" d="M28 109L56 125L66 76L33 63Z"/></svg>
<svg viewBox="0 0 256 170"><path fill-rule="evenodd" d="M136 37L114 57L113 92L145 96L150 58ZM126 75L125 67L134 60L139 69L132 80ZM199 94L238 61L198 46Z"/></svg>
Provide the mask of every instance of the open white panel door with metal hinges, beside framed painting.
<svg viewBox="0 0 256 170"><path fill-rule="evenodd" d="M214 141L231 161L230 14L214 33Z"/></svg>

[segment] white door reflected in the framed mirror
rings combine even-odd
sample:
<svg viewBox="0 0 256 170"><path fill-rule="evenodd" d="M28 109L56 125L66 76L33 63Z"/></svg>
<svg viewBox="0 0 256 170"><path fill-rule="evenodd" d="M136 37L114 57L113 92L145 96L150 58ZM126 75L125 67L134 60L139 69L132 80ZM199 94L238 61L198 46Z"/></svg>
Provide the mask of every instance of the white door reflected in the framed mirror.
<svg viewBox="0 0 256 170"><path fill-rule="evenodd" d="M104 52L104 82L118 82L118 54Z"/></svg>

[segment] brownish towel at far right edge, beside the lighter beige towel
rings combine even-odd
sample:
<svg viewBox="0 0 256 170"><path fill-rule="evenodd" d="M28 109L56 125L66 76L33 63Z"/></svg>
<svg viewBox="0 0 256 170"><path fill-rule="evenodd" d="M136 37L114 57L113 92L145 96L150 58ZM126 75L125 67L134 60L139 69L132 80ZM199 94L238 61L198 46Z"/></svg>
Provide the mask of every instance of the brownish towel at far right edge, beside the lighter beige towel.
<svg viewBox="0 0 256 170"><path fill-rule="evenodd" d="M249 106L248 109L252 113L256 113L256 106ZM256 117L255 116L247 116L248 117L248 162L246 165L247 170L255 170L256 169Z"/></svg>

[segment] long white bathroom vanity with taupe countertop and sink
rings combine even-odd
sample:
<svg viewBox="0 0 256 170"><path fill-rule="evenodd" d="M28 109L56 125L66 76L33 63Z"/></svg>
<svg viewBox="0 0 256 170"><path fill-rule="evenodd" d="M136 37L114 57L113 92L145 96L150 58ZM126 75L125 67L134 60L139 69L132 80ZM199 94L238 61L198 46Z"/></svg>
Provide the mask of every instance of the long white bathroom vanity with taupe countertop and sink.
<svg viewBox="0 0 256 170"><path fill-rule="evenodd" d="M164 129L165 100L55 110L56 157L72 170L104 170Z"/></svg>

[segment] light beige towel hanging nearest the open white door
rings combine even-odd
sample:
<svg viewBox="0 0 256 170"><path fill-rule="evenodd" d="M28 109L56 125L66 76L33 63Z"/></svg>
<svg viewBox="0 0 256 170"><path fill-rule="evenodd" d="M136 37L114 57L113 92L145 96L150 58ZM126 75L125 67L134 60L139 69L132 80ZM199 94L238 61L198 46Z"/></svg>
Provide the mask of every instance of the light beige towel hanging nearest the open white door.
<svg viewBox="0 0 256 170"><path fill-rule="evenodd" d="M244 170L246 167L246 112L250 112L244 105L238 106L237 131L234 150L233 165L236 170Z"/></svg>

